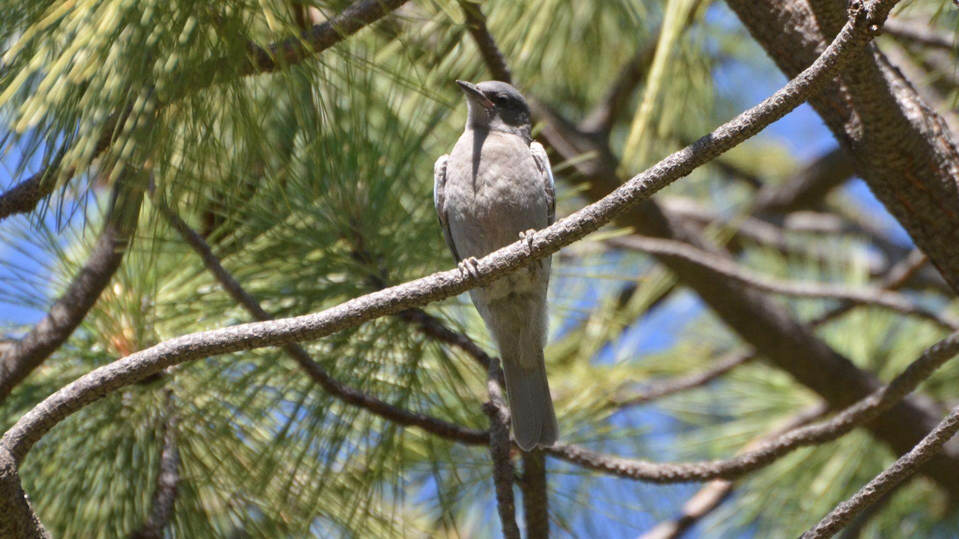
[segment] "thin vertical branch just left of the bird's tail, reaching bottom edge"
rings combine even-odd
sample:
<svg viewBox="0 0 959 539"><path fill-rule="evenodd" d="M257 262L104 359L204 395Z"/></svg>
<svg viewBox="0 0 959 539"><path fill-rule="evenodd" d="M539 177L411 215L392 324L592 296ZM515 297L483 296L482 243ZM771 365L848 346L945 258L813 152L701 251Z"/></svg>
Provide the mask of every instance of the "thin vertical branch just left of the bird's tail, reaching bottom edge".
<svg viewBox="0 0 959 539"><path fill-rule="evenodd" d="M503 388L498 381L500 363L489 363L486 375L486 390L489 402L484 405L489 415L489 454L493 457L493 484L496 506L503 524L506 539L520 539L520 527L516 524L516 502L513 499L513 461L509 457L509 409L503 399Z"/></svg>

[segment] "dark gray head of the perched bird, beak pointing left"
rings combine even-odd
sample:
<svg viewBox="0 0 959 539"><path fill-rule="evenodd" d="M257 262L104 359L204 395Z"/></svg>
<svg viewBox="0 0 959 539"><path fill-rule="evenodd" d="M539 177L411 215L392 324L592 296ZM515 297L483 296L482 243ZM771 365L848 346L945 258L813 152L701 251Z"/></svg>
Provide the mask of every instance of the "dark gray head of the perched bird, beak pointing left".
<svg viewBox="0 0 959 539"><path fill-rule="evenodd" d="M456 83L466 94L468 129L494 129L531 138L529 105L519 90L501 81Z"/></svg>

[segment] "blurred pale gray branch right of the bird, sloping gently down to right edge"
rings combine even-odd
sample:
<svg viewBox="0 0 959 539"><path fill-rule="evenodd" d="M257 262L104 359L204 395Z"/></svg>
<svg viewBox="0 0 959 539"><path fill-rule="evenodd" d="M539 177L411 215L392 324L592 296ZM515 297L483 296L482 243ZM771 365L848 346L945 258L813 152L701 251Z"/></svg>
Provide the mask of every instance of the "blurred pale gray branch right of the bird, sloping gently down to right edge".
<svg viewBox="0 0 959 539"><path fill-rule="evenodd" d="M857 305L873 305L896 311L903 315L922 317L950 331L959 329L959 322L924 309L901 293L881 289L854 289L843 285L830 285L827 283L803 283L773 279L765 275L756 274L749 269L744 269L728 258L717 256L713 253L697 249L689 244L673 240L648 238L631 234L629 236L612 238L607 240L607 242L653 254L682 258L693 264L708 267L715 273L724 275L763 292L779 293L793 297L836 299L849 301Z"/></svg>

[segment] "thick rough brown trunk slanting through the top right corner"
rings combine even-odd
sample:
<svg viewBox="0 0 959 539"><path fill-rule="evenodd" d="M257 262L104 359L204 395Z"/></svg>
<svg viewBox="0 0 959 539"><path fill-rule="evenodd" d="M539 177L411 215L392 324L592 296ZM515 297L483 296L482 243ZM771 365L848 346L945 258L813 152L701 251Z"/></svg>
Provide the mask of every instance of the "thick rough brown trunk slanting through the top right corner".
<svg viewBox="0 0 959 539"><path fill-rule="evenodd" d="M839 0L726 0L791 76L844 24ZM810 104L877 199L959 291L959 152L946 123L870 46Z"/></svg>

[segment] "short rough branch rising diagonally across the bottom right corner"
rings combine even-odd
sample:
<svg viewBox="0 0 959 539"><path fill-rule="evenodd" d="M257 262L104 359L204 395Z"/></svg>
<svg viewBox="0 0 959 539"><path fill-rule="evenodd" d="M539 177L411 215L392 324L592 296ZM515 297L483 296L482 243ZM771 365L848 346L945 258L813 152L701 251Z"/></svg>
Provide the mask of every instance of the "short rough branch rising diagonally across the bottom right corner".
<svg viewBox="0 0 959 539"><path fill-rule="evenodd" d="M915 474L926 460L943 449L949 438L957 431L959 431L959 407L952 409L942 423L925 436L912 451L896 460L876 479L869 481L852 498L839 504L819 524L804 533L802 539L831 537L849 524L855 515L870 504L876 503L883 494L889 492L901 480Z"/></svg>

